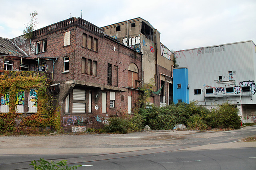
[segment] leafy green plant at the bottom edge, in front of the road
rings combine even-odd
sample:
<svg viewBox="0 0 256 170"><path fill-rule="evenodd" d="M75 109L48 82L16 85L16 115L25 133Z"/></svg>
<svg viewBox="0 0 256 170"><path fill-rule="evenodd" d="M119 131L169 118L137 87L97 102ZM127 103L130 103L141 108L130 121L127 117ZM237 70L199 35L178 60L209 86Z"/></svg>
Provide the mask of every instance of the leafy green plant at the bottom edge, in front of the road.
<svg viewBox="0 0 256 170"><path fill-rule="evenodd" d="M44 160L43 158L40 158L40 160L32 160L31 164L34 166L34 170L74 170L80 167L81 165L75 165L75 166L68 166L67 160L61 160L60 162L48 162Z"/></svg>

